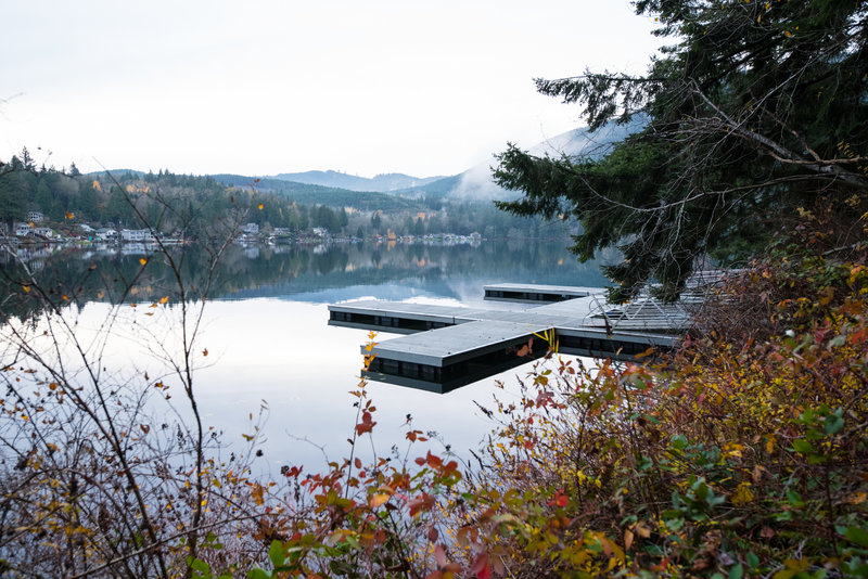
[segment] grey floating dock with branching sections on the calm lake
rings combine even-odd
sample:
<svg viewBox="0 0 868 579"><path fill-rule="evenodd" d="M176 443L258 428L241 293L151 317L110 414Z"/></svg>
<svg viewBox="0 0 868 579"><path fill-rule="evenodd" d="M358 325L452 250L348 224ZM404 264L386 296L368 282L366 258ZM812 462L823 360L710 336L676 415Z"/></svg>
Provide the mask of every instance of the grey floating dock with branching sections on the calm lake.
<svg viewBox="0 0 868 579"><path fill-rule="evenodd" d="M633 360L649 348L671 349L702 303L694 295L676 304L642 296L614 306L602 288L520 284L485 286L485 296L516 307L349 301L329 306L329 324L412 334L378 343L366 375L445 393L544 356L542 336L562 353L595 358Z"/></svg>

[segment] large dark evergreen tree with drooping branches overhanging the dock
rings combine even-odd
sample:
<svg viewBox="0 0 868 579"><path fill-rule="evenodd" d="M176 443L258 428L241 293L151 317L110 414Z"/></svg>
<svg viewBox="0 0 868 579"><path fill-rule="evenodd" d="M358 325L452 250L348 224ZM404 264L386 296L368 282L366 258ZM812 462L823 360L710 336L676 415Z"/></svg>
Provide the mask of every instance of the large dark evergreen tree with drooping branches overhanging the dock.
<svg viewBox="0 0 868 579"><path fill-rule="evenodd" d="M854 221L866 210L866 0L634 3L676 39L647 75L586 70L537 88L583 106L591 129L637 132L596 159L510 145L496 179L524 196L499 207L577 219L582 260L617 244L616 299L650 279L675 297L698 256L742 259L819 195Z"/></svg>

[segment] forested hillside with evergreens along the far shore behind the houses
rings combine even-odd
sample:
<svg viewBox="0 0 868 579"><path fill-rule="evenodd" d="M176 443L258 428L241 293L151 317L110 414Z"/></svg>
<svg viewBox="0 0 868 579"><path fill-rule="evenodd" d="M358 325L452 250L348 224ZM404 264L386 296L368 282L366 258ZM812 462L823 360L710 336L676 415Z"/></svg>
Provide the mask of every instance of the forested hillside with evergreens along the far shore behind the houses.
<svg viewBox="0 0 868 579"><path fill-rule="evenodd" d="M197 177L167 170L120 170L82 175L68 169L37 167L25 149L0 164L0 218L8 229L39 211L55 227L138 229L192 239L207 236L208 223L228 216L256 223L264 232L276 228L368 236L425 235L473 232L489 239L558 237L566 226L539 218L515 217L489 202L409 200L376 192L355 192L277 179L217 175Z"/></svg>

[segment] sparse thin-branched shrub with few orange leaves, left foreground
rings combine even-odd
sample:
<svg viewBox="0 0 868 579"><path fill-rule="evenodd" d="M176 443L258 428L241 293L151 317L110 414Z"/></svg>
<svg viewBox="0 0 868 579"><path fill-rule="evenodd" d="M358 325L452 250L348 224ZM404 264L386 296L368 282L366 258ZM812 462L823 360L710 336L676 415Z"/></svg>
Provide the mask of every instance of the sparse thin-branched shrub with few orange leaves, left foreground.
<svg viewBox="0 0 868 579"><path fill-rule="evenodd" d="M157 221L182 221L148 194L163 207ZM254 539L264 511L251 476L256 435L226 450L203 422L194 379L207 356L196 345L203 308L244 215L213 223L196 271L189 247L159 237L127 275L111 261L52 274L0 245L0 576L231 574L265 553ZM149 355L108 360L116 343Z"/></svg>

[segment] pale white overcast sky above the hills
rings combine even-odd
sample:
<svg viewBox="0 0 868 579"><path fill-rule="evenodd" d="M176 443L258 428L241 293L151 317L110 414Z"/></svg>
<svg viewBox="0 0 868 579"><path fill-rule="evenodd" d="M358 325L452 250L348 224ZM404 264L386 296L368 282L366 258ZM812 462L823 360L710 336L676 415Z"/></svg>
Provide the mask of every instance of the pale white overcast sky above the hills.
<svg viewBox="0 0 868 579"><path fill-rule="evenodd" d="M4 0L0 159L456 175L583 126L534 78L642 73L626 0Z"/></svg>

